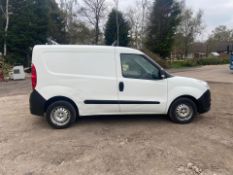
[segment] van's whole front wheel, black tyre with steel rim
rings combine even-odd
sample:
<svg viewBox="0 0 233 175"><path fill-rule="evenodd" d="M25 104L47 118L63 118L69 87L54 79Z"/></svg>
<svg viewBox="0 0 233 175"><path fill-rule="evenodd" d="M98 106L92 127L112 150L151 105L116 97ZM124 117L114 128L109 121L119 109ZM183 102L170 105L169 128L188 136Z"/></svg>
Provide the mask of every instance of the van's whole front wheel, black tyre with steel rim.
<svg viewBox="0 0 233 175"><path fill-rule="evenodd" d="M190 123L197 115L197 106L189 98L179 98L172 103L169 118L176 123Z"/></svg>

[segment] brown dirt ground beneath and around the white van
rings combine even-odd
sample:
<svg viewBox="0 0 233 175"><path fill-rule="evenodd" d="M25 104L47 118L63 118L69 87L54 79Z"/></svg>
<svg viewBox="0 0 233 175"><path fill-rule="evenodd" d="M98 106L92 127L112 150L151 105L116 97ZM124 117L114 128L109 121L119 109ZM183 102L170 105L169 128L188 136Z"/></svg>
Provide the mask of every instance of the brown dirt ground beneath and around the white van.
<svg viewBox="0 0 233 175"><path fill-rule="evenodd" d="M28 80L0 82L0 174L232 175L233 74L227 66L176 74L211 81L212 110L189 125L106 116L53 130L29 113Z"/></svg>

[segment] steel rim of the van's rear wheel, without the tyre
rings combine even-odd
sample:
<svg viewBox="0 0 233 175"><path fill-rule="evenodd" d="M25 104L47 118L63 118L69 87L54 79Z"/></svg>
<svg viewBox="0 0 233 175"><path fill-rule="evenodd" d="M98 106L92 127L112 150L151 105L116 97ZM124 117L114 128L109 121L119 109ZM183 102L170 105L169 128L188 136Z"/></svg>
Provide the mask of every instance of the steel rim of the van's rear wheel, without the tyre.
<svg viewBox="0 0 233 175"><path fill-rule="evenodd" d="M71 113L66 107L59 106L51 111L50 118L54 124L64 126L69 123Z"/></svg>

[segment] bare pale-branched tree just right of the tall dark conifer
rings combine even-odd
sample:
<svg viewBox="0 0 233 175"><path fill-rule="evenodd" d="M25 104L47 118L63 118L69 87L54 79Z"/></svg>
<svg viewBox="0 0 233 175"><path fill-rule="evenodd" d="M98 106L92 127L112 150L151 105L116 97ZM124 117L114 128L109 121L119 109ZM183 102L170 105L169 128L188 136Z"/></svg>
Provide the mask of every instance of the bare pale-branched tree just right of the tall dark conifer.
<svg viewBox="0 0 233 175"><path fill-rule="evenodd" d="M179 42L177 44L181 45L185 56L188 55L191 45L204 29L202 18L202 10L199 10L197 14L194 15L192 9L186 9L184 7L181 16L181 23L176 34L176 40Z"/></svg>

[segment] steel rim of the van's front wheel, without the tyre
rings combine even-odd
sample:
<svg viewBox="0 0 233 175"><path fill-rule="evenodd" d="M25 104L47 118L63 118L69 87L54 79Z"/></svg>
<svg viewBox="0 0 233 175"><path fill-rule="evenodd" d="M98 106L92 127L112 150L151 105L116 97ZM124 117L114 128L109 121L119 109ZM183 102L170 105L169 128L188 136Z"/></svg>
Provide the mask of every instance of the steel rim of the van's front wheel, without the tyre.
<svg viewBox="0 0 233 175"><path fill-rule="evenodd" d="M181 120L188 120L193 115L193 109L187 104L180 104L176 108L176 116Z"/></svg>

